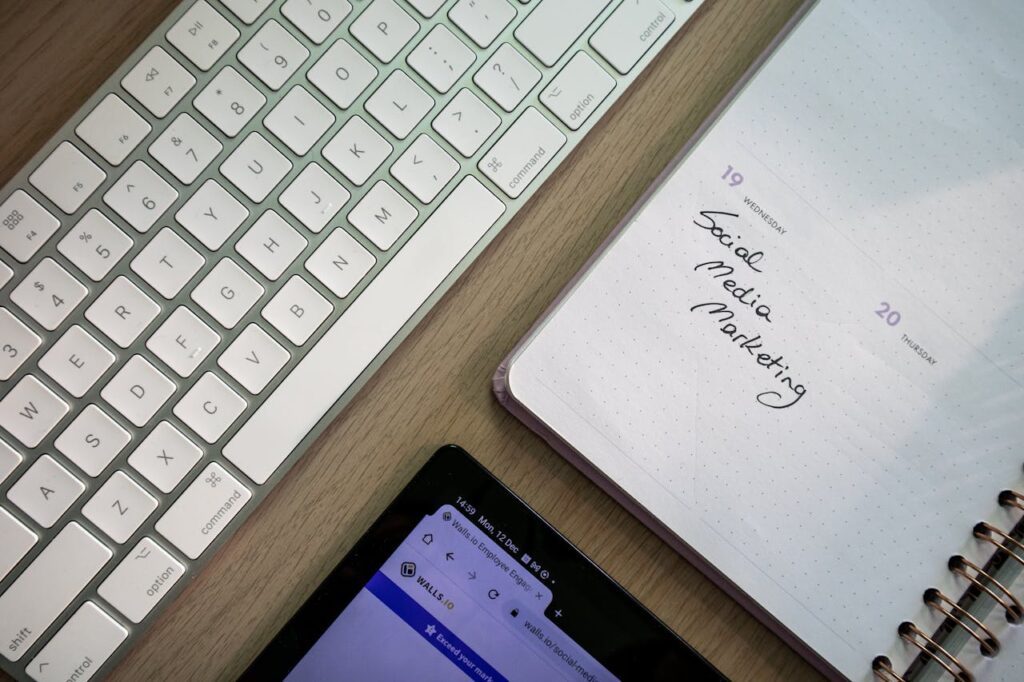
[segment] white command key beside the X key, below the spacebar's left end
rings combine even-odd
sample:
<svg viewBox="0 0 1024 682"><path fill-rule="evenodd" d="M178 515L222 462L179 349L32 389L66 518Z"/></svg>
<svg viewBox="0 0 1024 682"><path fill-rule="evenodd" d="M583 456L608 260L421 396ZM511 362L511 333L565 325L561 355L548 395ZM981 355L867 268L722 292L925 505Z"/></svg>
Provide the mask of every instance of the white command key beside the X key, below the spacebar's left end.
<svg viewBox="0 0 1024 682"><path fill-rule="evenodd" d="M234 476L211 464L157 521L157 532L189 559L199 558L251 497Z"/></svg>

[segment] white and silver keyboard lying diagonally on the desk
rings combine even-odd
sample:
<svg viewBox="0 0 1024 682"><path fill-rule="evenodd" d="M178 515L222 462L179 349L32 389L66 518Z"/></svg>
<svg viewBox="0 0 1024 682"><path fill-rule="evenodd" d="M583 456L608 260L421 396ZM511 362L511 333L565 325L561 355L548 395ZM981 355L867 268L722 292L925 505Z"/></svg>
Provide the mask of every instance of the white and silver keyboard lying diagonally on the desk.
<svg viewBox="0 0 1024 682"><path fill-rule="evenodd" d="M0 190L0 668L111 670L699 4L172 12Z"/></svg>

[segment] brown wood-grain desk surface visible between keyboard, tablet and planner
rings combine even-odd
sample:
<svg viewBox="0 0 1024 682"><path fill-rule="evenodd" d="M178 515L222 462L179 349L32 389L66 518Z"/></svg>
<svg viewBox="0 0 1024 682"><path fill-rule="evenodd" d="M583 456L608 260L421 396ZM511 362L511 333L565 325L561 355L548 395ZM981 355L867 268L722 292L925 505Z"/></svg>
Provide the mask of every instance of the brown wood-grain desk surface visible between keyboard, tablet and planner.
<svg viewBox="0 0 1024 682"><path fill-rule="evenodd" d="M0 183L177 1L0 2ZM730 677L815 679L490 394L499 361L799 4L710 0L114 678L233 678L434 449L453 441Z"/></svg>

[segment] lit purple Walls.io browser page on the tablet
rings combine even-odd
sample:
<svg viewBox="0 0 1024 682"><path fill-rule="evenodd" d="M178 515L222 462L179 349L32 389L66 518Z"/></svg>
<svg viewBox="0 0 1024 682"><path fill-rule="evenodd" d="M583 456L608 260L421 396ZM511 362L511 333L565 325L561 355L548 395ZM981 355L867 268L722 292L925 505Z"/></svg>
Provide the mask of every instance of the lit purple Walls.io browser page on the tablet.
<svg viewBox="0 0 1024 682"><path fill-rule="evenodd" d="M615 678L544 615L551 592L455 508L424 517L288 682Z"/></svg>

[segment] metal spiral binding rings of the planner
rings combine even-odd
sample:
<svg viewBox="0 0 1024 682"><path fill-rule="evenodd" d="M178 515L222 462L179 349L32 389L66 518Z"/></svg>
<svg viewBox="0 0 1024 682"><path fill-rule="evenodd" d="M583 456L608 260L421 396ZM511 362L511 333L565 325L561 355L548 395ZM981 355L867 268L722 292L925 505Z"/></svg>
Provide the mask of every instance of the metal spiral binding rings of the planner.
<svg viewBox="0 0 1024 682"><path fill-rule="evenodd" d="M1024 495L1016 491L1002 491L998 496L998 501L999 505L1007 509L1024 511ZM974 537L995 548L993 558L1013 559L1024 567L1024 557L1017 553L1017 551L1024 551L1024 543L1009 532L982 521L974 526ZM964 578L980 592L991 597L1002 608L1010 623L1024 622L1024 604L1010 589L995 580L984 568L961 555L951 557L948 566L950 571ZM981 619L961 606L955 600L932 588L925 592L925 603L954 628L962 628L973 637L978 642L982 655L991 657L998 654L1000 645L995 634ZM934 660L957 682L972 682L974 680L971 671L943 647L940 641L937 641L941 639L938 636L929 636L910 622L901 624L897 632L900 639L920 651L918 655L924 655ZM882 682L908 682L905 677L895 671L892 660L887 656L876 656L874 660L871 662L871 671L874 677Z"/></svg>

